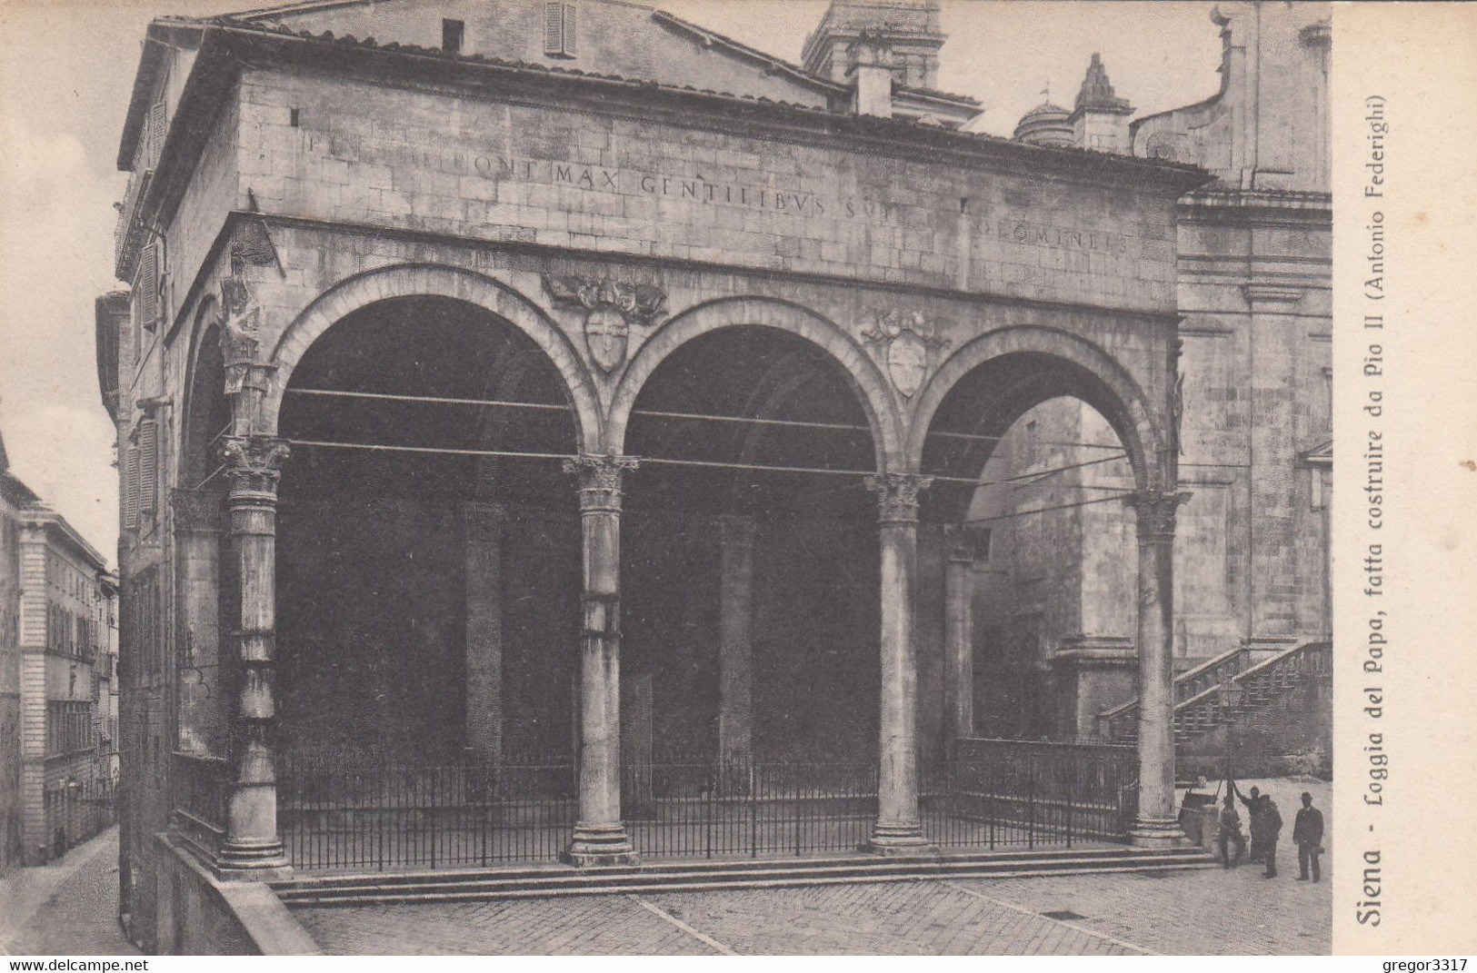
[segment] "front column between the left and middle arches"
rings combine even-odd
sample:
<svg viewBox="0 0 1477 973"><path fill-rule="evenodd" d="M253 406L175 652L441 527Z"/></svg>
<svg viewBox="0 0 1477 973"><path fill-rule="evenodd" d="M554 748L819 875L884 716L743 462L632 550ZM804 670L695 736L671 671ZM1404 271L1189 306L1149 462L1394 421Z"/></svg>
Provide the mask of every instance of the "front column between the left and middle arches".
<svg viewBox="0 0 1477 973"><path fill-rule="evenodd" d="M637 861L620 819L620 480L634 456L583 455L564 462L579 477L583 630L579 679L579 816L566 862Z"/></svg>

